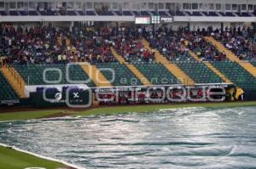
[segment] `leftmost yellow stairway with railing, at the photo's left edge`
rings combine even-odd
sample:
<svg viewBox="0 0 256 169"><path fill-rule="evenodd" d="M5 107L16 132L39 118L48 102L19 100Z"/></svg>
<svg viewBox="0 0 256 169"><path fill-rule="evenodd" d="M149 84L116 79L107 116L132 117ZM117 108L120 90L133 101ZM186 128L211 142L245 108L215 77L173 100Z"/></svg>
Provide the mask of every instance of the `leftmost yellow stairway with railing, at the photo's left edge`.
<svg viewBox="0 0 256 169"><path fill-rule="evenodd" d="M20 98L26 98L26 82L24 82L20 74L15 70L15 68L3 67L0 70L3 73L3 76L5 76L5 78L8 80L9 84L15 89L15 93L17 93Z"/></svg>

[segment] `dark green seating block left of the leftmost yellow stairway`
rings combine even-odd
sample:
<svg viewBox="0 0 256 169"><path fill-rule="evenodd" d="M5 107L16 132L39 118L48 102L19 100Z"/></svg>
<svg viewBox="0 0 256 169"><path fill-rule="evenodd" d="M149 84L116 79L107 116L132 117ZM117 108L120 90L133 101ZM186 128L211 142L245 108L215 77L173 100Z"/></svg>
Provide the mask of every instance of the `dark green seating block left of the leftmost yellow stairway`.
<svg viewBox="0 0 256 169"><path fill-rule="evenodd" d="M0 100L18 99L18 95L15 93L13 87L10 86L9 82L3 76L0 71Z"/></svg>

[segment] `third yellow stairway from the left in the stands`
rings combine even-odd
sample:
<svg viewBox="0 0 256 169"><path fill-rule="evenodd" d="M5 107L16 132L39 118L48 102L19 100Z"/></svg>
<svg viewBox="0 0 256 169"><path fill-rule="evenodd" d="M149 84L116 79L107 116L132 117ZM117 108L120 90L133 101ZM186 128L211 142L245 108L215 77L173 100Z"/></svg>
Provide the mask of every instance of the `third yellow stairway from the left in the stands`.
<svg viewBox="0 0 256 169"><path fill-rule="evenodd" d="M131 72L137 76L137 78L143 82L143 85L145 86L149 86L151 84L151 82L148 81L148 79L146 78L146 76L143 75L143 73L137 69L136 66L131 65L127 62L125 62L125 59L123 57L121 57L119 54L117 54L117 52L115 51L114 48L111 47L111 52L113 54L113 56L115 57L115 59L117 59L119 61L120 64L125 64L126 67L129 68L129 70L131 70Z"/></svg>

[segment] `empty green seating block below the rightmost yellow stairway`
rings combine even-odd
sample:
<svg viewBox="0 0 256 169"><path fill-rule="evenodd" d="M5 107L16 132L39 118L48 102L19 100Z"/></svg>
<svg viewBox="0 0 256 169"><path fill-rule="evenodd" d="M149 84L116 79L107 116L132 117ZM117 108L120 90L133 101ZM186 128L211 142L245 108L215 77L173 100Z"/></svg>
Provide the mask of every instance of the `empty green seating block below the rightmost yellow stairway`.
<svg viewBox="0 0 256 169"><path fill-rule="evenodd" d="M230 81L234 82L238 87L242 87L245 90L256 89L256 78L236 62L214 61L212 62L212 65L220 70L224 76L228 77Z"/></svg>

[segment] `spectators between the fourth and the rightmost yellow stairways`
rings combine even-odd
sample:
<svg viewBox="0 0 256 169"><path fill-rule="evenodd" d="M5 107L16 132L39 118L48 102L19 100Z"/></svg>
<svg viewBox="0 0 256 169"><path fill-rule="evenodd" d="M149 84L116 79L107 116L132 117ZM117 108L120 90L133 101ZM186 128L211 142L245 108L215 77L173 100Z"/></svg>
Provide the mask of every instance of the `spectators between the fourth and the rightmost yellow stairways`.
<svg viewBox="0 0 256 169"><path fill-rule="evenodd" d="M167 59L172 61L188 61L189 49L202 60L224 60L225 54L218 51L204 36L207 31L188 31L179 27L178 31L172 28L159 28L156 31L148 32L148 41L151 47L157 48Z"/></svg>

